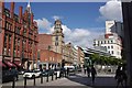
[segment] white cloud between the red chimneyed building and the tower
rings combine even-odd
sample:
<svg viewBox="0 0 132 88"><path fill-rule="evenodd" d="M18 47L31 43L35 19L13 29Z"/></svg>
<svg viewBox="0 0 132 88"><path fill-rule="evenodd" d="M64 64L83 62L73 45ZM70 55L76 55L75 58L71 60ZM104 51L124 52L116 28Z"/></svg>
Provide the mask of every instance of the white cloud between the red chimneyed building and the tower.
<svg viewBox="0 0 132 88"><path fill-rule="evenodd" d="M37 25L38 25L38 30L40 30L38 33L43 33L46 30L50 30L52 26L52 23L45 18L37 19L35 21L37 22Z"/></svg>

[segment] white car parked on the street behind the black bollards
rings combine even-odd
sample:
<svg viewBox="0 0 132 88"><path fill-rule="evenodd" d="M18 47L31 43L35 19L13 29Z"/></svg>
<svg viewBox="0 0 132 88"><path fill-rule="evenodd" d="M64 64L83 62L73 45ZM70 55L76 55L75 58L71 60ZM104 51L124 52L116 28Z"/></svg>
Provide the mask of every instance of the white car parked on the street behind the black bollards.
<svg viewBox="0 0 132 88"><path fill-rule="evenodd" d="M24 72L23 77L26 77L26 78L33 78L33 76L40 77L41 74L42 74L42 73L41 73L40 70L37 70L37 69L26 70L26 72Z"/></svg>

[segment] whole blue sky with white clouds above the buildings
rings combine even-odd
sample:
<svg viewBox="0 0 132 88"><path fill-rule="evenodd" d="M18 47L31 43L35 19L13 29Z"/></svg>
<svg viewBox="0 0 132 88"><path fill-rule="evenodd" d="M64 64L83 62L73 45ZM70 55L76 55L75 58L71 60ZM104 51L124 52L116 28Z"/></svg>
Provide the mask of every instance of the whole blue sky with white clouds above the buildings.
<svg viewBox="0 0 132 88"><path fill-rule="evenodd" d="M92 47L94 38L105 34L106 20L122 21L121 3L117 0L108 2L31 2L34 21L38 33L52 33L56 19L62 21L65 43L81 47ZM10 7L9 3L6 4ZM28 2L16 2L23 10Z"/></svg>

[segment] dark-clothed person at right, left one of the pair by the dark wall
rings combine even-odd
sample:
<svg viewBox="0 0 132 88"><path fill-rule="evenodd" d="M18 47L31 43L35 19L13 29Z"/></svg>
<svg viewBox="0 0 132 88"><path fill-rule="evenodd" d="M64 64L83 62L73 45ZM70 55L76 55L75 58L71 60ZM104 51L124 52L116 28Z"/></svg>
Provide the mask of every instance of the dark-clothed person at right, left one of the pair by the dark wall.
<svg viewBox="0 0 132 88"><path fill-rule="evenodd" d="M120 84L123 87L123 75L122 75L121 66L118 66L114 78L117 80L117 88L119 87Z"/></svg>

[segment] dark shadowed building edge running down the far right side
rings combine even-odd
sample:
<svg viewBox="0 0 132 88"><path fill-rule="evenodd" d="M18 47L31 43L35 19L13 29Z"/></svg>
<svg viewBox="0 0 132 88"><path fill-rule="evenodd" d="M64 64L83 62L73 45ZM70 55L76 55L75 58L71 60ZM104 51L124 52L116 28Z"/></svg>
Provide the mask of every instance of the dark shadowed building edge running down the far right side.
<svg viewBox="0 0 132 88"><path fill-rule="evenodd" d="M132 87L132 1L122 2L124 24L124 55L127 58L128 82Z"/></svg>

